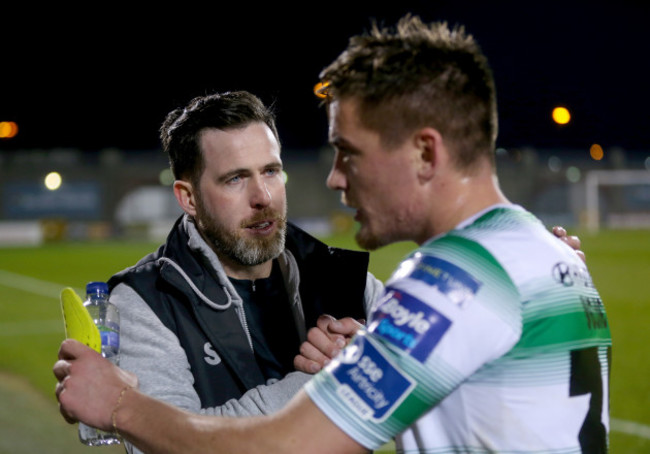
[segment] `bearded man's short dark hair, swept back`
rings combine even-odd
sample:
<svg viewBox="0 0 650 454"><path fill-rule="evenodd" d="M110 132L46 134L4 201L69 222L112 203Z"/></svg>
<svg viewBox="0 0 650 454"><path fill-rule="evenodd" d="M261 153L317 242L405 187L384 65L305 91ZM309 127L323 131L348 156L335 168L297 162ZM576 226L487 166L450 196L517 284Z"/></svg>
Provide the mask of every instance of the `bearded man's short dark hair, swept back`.
<svg viewBox="0 0 650 454"><path fill-rule="evenodd" d="M242 128L256 122L265 123L280 143L272 109L247 91L198 96L184 108L172 110L160 127L160 140L174 178L198 182L205 168L199 147L203 130Z"/></svg>

